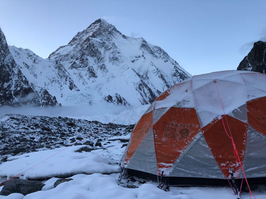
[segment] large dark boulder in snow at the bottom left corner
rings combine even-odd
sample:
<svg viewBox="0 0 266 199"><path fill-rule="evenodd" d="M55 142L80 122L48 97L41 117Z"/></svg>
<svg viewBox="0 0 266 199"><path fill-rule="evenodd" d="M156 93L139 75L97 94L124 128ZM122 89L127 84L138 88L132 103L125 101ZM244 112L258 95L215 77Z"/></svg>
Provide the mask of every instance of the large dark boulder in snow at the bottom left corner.
<svg viewBox="0 0 266 199"><path fill-rule="evenodd" d="M40 191L44 186L40 181L12 179L8 181L0 192L2 196L8 196L12 193L20 193L24 196L36 191Z"/></svg>

